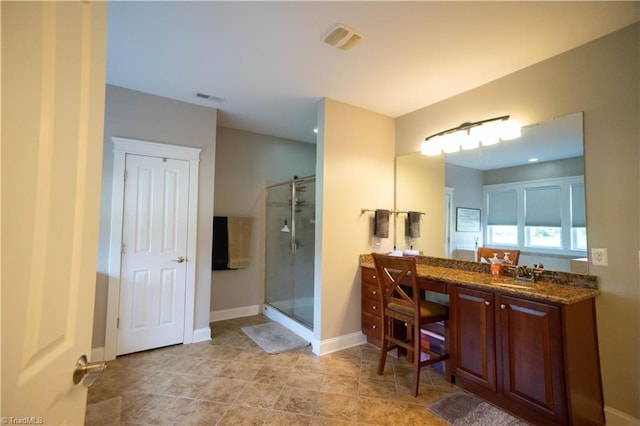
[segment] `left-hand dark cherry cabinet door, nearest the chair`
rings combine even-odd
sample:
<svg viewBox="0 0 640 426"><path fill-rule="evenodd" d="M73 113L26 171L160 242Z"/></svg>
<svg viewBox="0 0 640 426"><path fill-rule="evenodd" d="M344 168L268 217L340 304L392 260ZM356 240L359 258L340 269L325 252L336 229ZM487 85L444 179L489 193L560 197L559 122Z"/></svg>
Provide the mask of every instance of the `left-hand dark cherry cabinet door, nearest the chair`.
<svg viewBox="0 0 640 426"><path fill-rule="evenodd" d="M453 374L495 392L494 295L458 286L451 290Z"/></svg>

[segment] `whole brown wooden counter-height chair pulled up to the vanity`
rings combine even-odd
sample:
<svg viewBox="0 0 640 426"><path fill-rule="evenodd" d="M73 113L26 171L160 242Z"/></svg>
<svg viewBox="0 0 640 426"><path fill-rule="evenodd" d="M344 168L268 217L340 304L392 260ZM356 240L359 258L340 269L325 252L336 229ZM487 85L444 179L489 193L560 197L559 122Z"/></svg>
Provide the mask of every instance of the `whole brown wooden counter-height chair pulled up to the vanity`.
<svg viewBox="0 0 640 426"><path fill-rule="evenodd" d="M413 362L413 396L417 396L420 369L449 358L448 353L438 354L421 348L420 330L425 324L448 320L449 308L420 297L415 258L378 253L372 253L372 257L382 299L382 348L377 373L382 375L384 372L387 351L398 346L407 349L407 358ZM394 335L394 320L407 325L406 336ZM428 355L425 360L421 357L423 352Z"/></svg>

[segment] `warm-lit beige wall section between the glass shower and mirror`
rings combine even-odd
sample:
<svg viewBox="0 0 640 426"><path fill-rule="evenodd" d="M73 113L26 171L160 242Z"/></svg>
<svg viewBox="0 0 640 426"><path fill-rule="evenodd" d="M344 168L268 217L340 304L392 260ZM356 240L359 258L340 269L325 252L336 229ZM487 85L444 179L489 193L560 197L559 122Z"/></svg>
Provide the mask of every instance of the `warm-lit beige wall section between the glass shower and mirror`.
<svg viewBox="0 0 640 426"><path fill-rule="evenodd" d="M358 256L372 251L373 217L360 209L393 208L394 120L324 99L318 127L314 333L327 340L360 332Z"/></svg>

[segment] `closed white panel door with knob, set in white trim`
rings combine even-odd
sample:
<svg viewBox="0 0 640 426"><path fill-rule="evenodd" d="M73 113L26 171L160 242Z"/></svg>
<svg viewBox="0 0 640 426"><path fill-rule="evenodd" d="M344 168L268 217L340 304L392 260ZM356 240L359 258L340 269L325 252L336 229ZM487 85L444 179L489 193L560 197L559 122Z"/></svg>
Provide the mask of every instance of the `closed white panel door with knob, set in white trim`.
<svg viewBox="0 0 640 426"><path fill-rule="evenodd" d="M127 154L117 354L182 343L189 162Z"/></svg>

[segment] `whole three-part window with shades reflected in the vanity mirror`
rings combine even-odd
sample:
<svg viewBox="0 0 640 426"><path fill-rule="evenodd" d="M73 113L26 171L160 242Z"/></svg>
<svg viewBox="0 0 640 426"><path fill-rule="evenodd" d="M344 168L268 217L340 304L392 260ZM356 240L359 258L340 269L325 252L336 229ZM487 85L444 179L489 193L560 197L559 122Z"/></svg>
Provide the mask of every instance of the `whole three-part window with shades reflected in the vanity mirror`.
<svg viewBox="0 0 640 426"><path fill-rule="evenodd" d="M544 252L585 251L582 176L484 187L486 244Z"/></svg>

